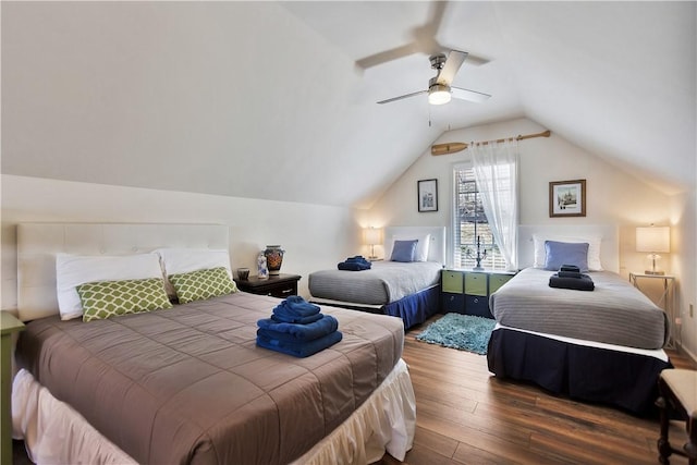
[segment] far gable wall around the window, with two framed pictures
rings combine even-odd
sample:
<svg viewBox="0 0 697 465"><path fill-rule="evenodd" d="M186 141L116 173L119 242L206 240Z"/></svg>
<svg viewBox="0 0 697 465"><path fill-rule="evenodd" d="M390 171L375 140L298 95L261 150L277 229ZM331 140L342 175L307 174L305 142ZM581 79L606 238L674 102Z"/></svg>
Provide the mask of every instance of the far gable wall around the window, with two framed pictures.
<svg viewBox="0 0 697 465"><path fill-rule="evenodd" d="M435 144L447 142L490 140L518 134L545 131L528 119L487 124L444 133ZM672 235L680 238L680 248L663 257L662 267L677 276L681 313L687 299L695 301L695 198L671 198L656 191L620 167L609 164L594 154L559 137L539 137L519 142L521 154L521 224L616 224L620 237L620 273L628 278L631 271L641 271L646 254L635 252L637 225L671 225ZM467 150L445 156L431 156L430 148L394 183L364 215L363 221L375 227L387 224L444 225L450 228L452 201L452 166L469 159ZM418 212L416 185L418 180L437 179L439 209ZM586 180L586 217L549 218L549 182ZM674 205L671 209L670 206ZM675 210L672 212L672 210ZM680 217L680 220L676 219ZM450 240L449 231L449 240ZM382 252L382 250L380 250ZM677 255L680 254L680 259ZM675 261L675 267L672 266ZM657 299L660 289L646 287ZM692 325L688 329L687 326ZM682 340L695 353L697 331L695 320L684 318Z"/></svg>

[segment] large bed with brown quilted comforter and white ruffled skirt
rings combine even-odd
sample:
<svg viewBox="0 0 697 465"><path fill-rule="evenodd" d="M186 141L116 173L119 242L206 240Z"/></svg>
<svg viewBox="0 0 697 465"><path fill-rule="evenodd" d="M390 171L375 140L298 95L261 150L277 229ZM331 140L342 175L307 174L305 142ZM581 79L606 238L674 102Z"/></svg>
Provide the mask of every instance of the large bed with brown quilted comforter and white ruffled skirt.
<svg viewBox="0 0 697 465"><path fill-rule="evenodd" d="M415 400L396 318L322 307L343 340L295 358L255 344L256 321L280 303L273 297L233 292L87 322L58 314L57 279L65 277L57 278L57 254L186 250L186 260L161 262L169 276L170 267L211 266L197 257L228 248L227 227L21 224L17 241L27 325L15 353L13 429L34 461L369 463L411 448Z"/></svg>

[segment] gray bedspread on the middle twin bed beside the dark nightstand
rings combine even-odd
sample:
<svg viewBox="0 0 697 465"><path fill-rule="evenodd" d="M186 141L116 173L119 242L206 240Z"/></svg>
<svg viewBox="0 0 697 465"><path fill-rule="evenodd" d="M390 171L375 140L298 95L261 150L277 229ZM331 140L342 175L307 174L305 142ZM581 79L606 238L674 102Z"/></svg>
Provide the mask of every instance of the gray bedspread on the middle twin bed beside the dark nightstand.
<svg viewBox="0 0 697 465"><path fill-rule="evenodd" d="M374 261L364 271L315 271L308 286L316 298L384 305L438 284L442 268L436 261Z"/></svg>

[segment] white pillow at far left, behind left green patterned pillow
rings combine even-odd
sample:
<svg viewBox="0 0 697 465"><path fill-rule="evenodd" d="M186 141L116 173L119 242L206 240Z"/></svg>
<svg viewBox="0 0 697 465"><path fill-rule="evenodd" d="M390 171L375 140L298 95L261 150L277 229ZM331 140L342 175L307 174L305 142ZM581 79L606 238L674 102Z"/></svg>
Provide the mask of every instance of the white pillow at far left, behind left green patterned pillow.
<svg viewBox="0 0 697 465"><path fill-rule="evenodd" d="M123 256L56 255L58 309L62 320L83 316L77 286L94 281L126 279L162 279L160 261L155 254Z"/></svg>

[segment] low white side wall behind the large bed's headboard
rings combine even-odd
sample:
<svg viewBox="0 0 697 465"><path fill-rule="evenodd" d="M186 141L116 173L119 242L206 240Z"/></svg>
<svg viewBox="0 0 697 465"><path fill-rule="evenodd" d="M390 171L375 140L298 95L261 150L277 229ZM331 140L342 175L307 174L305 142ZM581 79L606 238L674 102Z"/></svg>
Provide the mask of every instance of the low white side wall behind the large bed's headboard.
<svg viewBox="0 0 697 465"><path fill-rule="evenodd" d="M267 244L285 249L281 272L307 276L360 253L354 210L205 194L2 175L2 309L16 308L20 222L173 222L230 227L233 268L256 269ZM256 272L252 272L256 274Z"/></svg>

